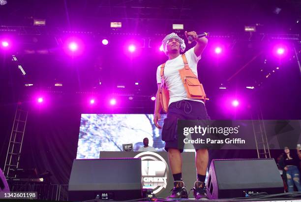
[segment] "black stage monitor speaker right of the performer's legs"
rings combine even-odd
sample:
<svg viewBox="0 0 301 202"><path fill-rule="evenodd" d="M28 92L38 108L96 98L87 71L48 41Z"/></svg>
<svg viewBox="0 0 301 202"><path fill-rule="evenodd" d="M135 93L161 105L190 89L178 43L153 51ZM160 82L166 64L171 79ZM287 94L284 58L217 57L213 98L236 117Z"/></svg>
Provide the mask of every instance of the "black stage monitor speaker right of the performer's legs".
<svg viewBox="0 0 301 202"><path fill-rule="evenodd" d="M245 197L257 192L284 193L274 159L212 160L206 187L209 199Z"/></svg>

